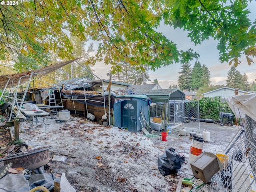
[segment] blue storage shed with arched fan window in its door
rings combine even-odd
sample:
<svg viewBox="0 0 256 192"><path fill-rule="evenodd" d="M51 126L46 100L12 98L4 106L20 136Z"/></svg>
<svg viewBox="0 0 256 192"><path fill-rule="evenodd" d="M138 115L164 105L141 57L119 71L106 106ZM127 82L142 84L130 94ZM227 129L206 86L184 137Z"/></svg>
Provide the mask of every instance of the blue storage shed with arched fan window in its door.
<svg viewBox="0 0 256 192"><path fill-rule="evenodd" d="M149 122L150 99L146 95L118 95L114 97L114 126L127 128L136 133L144 126L143 118ZM120 115L121 114L121 115Z"/></svg>

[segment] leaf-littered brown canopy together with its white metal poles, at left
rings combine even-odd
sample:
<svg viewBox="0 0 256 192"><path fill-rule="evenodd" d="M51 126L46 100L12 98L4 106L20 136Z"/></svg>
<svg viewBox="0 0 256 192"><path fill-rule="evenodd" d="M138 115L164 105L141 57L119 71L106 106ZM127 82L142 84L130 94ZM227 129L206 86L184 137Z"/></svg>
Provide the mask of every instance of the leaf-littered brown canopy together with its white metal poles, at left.
<svg viewBox="0 0 256 192"><path fill-rule="evenodd" d="M31 71L28 71L28 72L22 72L22 73L18 73L18 74L0 76L0 88L3 89L2 94L0 96L0 100L2 99L2 96L4 95L4 92L5 92L6 88L8 87L10 80L12 80L9 87L12 88L13 86L17 86L16 92L15 92L14 97L13 97L14 101L13 101L13 104L12 104L12 110L10 112L10 114L12 114L12 111L14 109L15 104L18 105L17 94L18 94L18 87L20 86L20 84L24 84L24 83L28 82L26 90L25 90L24 95L23 95L23 98L21 100L20 105L22 105L23 102L24 102L26 93L28 91L30 81L32 79L40 78L42 76L45 76L48 73L53 72L53 71L55 71L59 68L62 68L63 66L65 66L65 65L67 65L71 62L74 62L78 59L79 58L76 58L76 59L73 59L73 60L69 60L69 61L66 61L66 62L61 62L61 63L55 64L55 65L46 66L44 68L40 68L40 69L37 69L37 70L31 70ZM20 109L21 108L18 109L18 112L17 112L16 116L19 115ZM11 115L10 115L10 119L11 119Z"/></svg>

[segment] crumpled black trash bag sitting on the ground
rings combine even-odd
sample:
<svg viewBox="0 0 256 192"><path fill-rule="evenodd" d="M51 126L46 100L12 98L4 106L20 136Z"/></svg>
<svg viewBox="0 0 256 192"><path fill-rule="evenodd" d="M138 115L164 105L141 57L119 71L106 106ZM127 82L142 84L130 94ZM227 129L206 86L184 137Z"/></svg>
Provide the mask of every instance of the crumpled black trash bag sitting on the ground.
<svg viewBox="0 0 256 192"><path fill-rule="evenodd" d="M176 154L174 148L167 148L165 153L158 157L158 170L162 176L174 174L180 170L184 162L184 156Z"/></svg>

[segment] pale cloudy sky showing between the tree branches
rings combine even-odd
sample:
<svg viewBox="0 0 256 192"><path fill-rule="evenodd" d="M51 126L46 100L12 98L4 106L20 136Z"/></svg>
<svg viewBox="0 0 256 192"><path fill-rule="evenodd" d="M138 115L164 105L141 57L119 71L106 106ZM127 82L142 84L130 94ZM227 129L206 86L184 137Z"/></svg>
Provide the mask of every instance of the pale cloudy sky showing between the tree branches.
<svg viewBox="0 0 256 192"><path fill-rule="evenodd" d="M256 1L252 1L249 5L250 11L250 20L256 20ZM169 40L172 40L177 44L177 48L180 50L188 50L192 48L200 57L198 61L201 65L205 64L210 71L210 81L213 85L223 85L226 84L228 71L230 70L230 66L228 62L221 63L219 61L219 53L216 48L218 42L213 39L205 40L199 45L194 45L193 42L190 41L190 38L187 37L187 32L184 32L182 29L176 28L174 29L171 26L166 26L161 24L158 28L158 32L162 32L164 36L166 36ZM256 79L256 58L253 58L253 62L250 66L248 65L245 56L240 58L241 64L237 66L237 70L243 75L246 73L248 77L248 82L252 83ZM194 66L195 60L191 62L192 67ZM110 66L106 66L103 62L97 63L92 69L96 72L100 78L109 79L106 73L110 70ZM158 84L162 89L167 89L169 85L173 86L174 84L178 84L178 76L180 64L171 64L167 67L161 67L156 69L155 71L150 71L150 79L158 80ZM150 84L151 82L147 82Z"/></svg>

